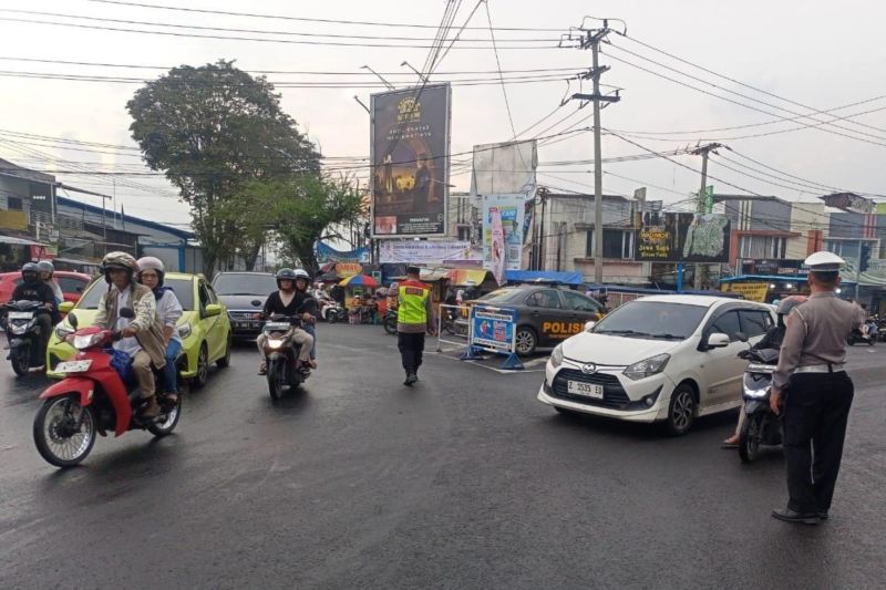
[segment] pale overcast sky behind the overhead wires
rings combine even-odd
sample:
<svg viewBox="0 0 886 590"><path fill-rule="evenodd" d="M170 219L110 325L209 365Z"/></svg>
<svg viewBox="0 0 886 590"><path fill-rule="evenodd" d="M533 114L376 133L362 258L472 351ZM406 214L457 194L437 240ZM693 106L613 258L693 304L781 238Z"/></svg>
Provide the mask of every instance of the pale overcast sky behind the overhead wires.
<svg viewBox="0 0 886 590"><path fill-rule="evenodd" d="M130 0L126 0L130 1ZM134 0L133 0L134 1ZM220 11L248 11L261 14L280 14L299 18L330 20L362 20L385 23L416 23L436 25L446 2L420 0L413 2L395 0L142 0L143 3L202 8ZM475 0L464 0L456 18L461 25L475 7ZM839 11L835 12L839 7ZM824 1L783 0L758 1L696 1L696 0L631 0L598 1L548 0L490 0L492 23L496 28L558 29L568 32L580 25L583 18L591 15L611 17L627 22L630 39L610 35L614 45L606 48L601 63L611 70L602 79L605 84L624 89L621 102L604 111L602 127L635 133L631 139L607 136L604 139L604 157L632 156L652 151L678 149L694 145L699 141L722 138L721 143L735 151L722 151L733 162L712 156L710 174L718 193L740 193L724 182L760 194L777 195L790 200L811 200L831 192L826 187L886 195L886 170L882 164L886 154L886 80L882 75L886 61L886 44L883 43L883 18L886 15L882 2L849 1L841 4ZM168 68L177 64L200 65L218 59L237 60L246 71L329 71L360 73L362 65L379 72L403 72L400 63L408 60L421 68L427 56L423 48L337 46L323 44L297 44L260 42L248 40L194 39L188 37L143 34L95 30L86 28L58 27L21 22L42 20L78 23L87 27L113 27L155 31L174 31L185 34L270 38L265 31L295 33L409 37L420 41L394 41L391 44L429 45L434 29L383 28L340 23L313 23L284 19L186 13L181 11L113 6L87 0L4 0L0 2L0 84L2 84L2 108L0 108L0 156L37 169L70 169L71 164L45 159L47 155L62 161L80 161L87 164L81 168L102 172L132 172L140 169L137 157L119 155L122 152L110 147L83 147L106 153L73 152L56 148L53 142L16 137L4 132L29 133L53 137L95 142L111 145L134 146L128 135L130 117L126 101L138 84L84 82L71 80L44 80L6 75L8 72L40 72L52 74L78 74L151 79L162 70L104 68L97 65L65 65L9 60L28 58L40 60L68 60L127 65L155 65ZM126 24L95 20L72 19L59 15L37 15L13 11L41 11L58 14L99 17L128 21L144 21L177 25L198 25L228 29L249 29L259 32L219 32L195 29L169 29L147 24ZM18 19L17 21L4 19ZM588 21L590 23L591 21ZM612 22L620 29L621 23ZM486 13L481 7L471 25L486 27ZM437 66L441 74L432 81L474 79L491 82L497 75L478 73L455 75L446 72L495 72L496 61L491 49L487 30L467 30L466 41L456 43ZM555 42L525 41L559 38L553 31L497 31L499 58L504 76L545 75L545 82L508 84L507 97L514 118L514 127L521 132L548 115L567 92L565 77L577 73L590 63L590 52L577 49L556 49ZM276 35L274 39L337 41L354 44L383 44L380 39L317 38ZM524 41L506 41L517 39ZM474 40L474 41L471 41ZM714 73L693 69L661 53L639 44L646 43L667 51L678 58L702 65L717 74L749 84L752 90L718 77ZM542 45L547 46L542 48ZM533 45L539 49L507 49ZM461 48L472 49L461 49ZM653 64L624 50L659 62ZM638 70L624 63L625 60L652 72L691 84L734 102L704 94L657 77L653 73ZM574 68L570 72L552 71ZM673 68L694 77L692 80ZM545 70L534 74L514 71ZM400 74L389 76L403 86L416 77ZM367 83L375 79L368 75L268 74L275 81L327 81L333 83ZM573 81L568 92L578 92ZM715 84L713 86L711 84ZM719 86L719 87L718 87ZM354 102L358 94L369 102L369 94L380 89L280 89L284 108L292 115L324 156L367 156L369 153L369 120L367 113ZM586 92L589 87L586 86ZM745 96L730 93L734 91ZM787 99L791 104L761 93L765 91ZM756 101L763 101L761 104ZM830 111L852 103L864 104L834 111L832 115L813 114L814 118L799 115L816 111ZM750 105L764 112L756 112ZM562 107L543 124L533 127L521 137L532 137L569 115L577 107L570 103ZM884 108L879 111L879 108ZM834 122L835 126L821 122L834 117L846 117L863 111L873 113L852 116ZM591 108L574 114L562 124L542 135L552 135L569 127ZM470 151L475 144L508 141L513 133L505 110L501 85L459 85L453 89L452 152ZM787 117L792 121L780 121ZM817 120L817 121L816 121ZM776 123L773 123L776 122ZM591 120L577 124L575 128L589 126ZM719 127L738 130L703 131ZM804 125L816 125L810 128ZM670 135L672 132L689 131ZM830 130L827 132L825 130ZM786 132L785 132L786 131ZM773 132L785 132L774 133ZM639 135L636 135L639 133ZM653 136L649 134L659 135ZM668 135L664 135L668 134ZM758 137L746 135L769 134ZM570 190L593 190L591 166L576 164L553 166L546 163L590 159L594 157L593 138L589 133L558 137L552 145L539 148L539 183ZM667 139L667 141L661 141ZM43 145L35 145L43 144ZM34 153L39 151L42 154ZM738 155L738 154L741 154ZM752 158L744 159L742 156ZM700 167L700 157L674 156L672 159L692 168ZM719 162L718 162L719 161ZM753 162L756 161L756 162ZM750 168L734 164L742 163ZM348 165L353 165L348 163ZM731 166L742 173L723 166ZM771 168L763 167L770 166ZM772 169L774 168L774 169ZM143 172L146 169L141 168ZM775 172L779 170L779 172ZM649 186L648 198L678 201L697 190L699 176L673 162L662 158L609 163L604 186L607 192L632 194L639 186ZM772 178L763 174L775 175ZM792 176L785 176L790 174ZM616 176L617 175L617 176ZM758 176L754 179L748 175ZM187 207L174 198L172 187L163 179L121 176L116 182L110 176L78 176L56 174L65 183L111 194L114 189L117 204L125 204L126 213L166 222L188 221ZM364 174L363 174L364 176ZM630 179L627 179L630 178ZM455 176L456 189L470 185L467 174ZM774 183L774 184L770 184ZM776 186L776 185L784 186ZM799 186L797 184L802 185ZM822 186L825 185L825 186ZM81 197L100 204L101 199Z"/></svg>

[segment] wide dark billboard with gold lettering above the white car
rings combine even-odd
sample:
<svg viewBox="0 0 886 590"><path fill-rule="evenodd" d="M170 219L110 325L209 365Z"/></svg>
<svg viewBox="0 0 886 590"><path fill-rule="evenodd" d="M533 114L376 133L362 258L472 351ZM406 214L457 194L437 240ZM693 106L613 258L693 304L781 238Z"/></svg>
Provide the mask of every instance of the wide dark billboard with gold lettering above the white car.
<svg viewBox="0 0 886 590"><path fill-rule="evenodd" d="M729 217L702 213L643 214L636 260L643 262L729 262Z"/></svg>

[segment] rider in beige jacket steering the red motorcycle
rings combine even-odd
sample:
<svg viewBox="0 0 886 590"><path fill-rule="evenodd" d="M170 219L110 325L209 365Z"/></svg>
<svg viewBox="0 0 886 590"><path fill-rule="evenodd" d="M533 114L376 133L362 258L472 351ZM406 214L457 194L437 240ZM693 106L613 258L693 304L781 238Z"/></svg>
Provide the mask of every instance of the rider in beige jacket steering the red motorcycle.
<svg viewBox="0 0 886 590"><path fill-rule="evenodd" d="M132 358L140 397L147 401L142 416L155 417L159 414L159 404L154 395L154 372L151 365L159 370L166 366L166 348L154 292L135 282L138 262L126 252L109 252L102 259L102 272L107 282L107 291L99 300L99 313L93 325L121 331L121 338L113 346ZM131 308L135 318L122 318L120 310L123 308Z"/></svg>

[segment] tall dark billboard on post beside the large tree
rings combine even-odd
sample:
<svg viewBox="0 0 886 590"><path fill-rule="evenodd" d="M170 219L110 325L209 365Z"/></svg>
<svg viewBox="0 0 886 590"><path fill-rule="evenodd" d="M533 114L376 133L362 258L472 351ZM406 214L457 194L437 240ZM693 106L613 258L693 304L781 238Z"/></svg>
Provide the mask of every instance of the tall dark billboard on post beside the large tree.
<svg viewBox="0 0 886 590"><path fill-rule="evenodd" d="M446 234L451 102L449 84L372 95L373 237Z"/></svg>

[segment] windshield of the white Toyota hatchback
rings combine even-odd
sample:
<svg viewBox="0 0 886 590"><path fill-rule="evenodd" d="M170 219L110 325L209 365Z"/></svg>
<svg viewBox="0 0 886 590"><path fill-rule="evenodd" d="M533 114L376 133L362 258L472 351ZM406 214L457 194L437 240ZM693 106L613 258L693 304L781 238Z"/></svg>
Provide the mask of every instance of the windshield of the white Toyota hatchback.
<svg viewBox="0 0 886 590"><path fill-rule="evenodd" d="M694 333L707 311L708 308L703 306L667 301L631 301L600 320L594 327L594 333L686 340Z"/></svg>

